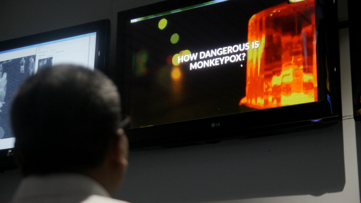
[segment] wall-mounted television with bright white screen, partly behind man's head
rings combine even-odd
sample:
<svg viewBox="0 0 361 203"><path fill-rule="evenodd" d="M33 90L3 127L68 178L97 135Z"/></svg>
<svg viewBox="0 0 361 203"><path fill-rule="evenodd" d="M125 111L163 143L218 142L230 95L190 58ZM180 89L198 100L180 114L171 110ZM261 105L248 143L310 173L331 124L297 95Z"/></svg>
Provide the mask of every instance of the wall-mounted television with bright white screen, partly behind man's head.
<svg viewBox="0 0 361 203"><path fill-rule="evenodd" d="M109 37L105 19L0 42L0 169L15 167L9 111L17 87L45 66L71 63L105 71Z"/></svg>

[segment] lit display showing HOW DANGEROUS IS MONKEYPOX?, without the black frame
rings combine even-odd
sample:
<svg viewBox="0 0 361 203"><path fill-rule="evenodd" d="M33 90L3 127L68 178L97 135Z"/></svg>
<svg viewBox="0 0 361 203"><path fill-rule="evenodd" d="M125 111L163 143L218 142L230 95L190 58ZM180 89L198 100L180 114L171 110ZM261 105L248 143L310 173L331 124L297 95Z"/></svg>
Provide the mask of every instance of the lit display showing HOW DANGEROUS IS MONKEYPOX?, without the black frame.
<svg viewBox="0 0 361 203"><path fill-rule="evenodd" d="M131 128L318 100L314 0L218 0L129 30Z"/></svg>

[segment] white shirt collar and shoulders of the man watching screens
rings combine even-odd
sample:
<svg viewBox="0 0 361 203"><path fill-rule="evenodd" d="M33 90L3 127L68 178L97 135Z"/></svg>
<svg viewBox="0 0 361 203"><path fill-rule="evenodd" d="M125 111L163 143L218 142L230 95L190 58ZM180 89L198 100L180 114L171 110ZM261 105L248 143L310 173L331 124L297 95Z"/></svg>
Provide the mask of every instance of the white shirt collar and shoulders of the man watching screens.
<svg viewBox="0 0 361 203"><path fill-rule="evenodd" d="M82 174L51 174L24 178L12 203L127 203L110 198L98 182Z"/></svg>

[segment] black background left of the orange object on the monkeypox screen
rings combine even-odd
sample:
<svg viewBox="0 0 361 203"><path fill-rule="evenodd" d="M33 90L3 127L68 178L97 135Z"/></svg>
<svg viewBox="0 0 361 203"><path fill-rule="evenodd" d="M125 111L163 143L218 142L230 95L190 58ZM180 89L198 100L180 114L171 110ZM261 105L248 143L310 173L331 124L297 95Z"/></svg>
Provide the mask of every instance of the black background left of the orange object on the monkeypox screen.
<svg viewBox="0 0 361 203"><path fill-rule="evenodd" d="M284 2L229 0L129 23L131 128L256 110L239 105L245 96L247 56L243 62L195 70L184 62L177 81L167 57L186 49L199 53L247 43L249 18ZM168 21L163 30L158 28L162 18ZM179 35L176 44L170 42L174 33Z"/></svg>

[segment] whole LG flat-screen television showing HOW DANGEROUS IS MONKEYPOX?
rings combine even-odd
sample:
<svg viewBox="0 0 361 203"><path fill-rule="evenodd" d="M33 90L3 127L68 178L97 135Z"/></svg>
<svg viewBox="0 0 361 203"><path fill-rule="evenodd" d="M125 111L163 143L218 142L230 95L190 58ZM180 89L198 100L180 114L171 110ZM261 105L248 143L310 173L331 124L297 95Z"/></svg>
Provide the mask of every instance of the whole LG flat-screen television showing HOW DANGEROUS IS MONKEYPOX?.
<svg viewBox="0 0 361 203"><path fill-rule="evenodd" d="M131 148L340 121L337 2L166 0L118 13Z"/></svg>

